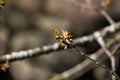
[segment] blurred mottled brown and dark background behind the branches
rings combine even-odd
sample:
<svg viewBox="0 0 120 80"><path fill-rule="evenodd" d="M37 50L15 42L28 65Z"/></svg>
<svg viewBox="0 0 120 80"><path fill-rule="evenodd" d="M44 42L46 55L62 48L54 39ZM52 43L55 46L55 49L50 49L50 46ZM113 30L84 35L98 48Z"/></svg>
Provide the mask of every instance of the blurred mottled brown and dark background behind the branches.
<svg viewBox="0 0 120 80"><path fill-rule="evenodd" d="M0 55L55 43L51 30L53 27L59 30L67 29L73 38L78 38L109 25L98 11L89 10L81 13L81 9L72 5L71 1L6 0L6 5L0 12ZM77 1L85 4L85 0ZM101 1L92 0L92 6L101 8L99 6ZM119 3L120 0L112 0L106 8L114 21L120 20ZM91 44L81 47L86 53L92 53L99 48L99 45ZM6 72L0 71L0 79L48 80L70 69L83 59L81 56L70 53L69 50L53 52L11 63ZM99 69L101 68L96 67L76 80L97 80L95 75L99 75Z"/></svg>

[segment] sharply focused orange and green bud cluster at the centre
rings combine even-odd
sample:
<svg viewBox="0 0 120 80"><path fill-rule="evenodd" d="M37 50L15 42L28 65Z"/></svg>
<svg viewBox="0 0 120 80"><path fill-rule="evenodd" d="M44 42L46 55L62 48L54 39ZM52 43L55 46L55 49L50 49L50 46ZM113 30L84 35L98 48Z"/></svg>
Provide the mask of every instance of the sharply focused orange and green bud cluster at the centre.
<svg viewBox="0 0 120 80"><path fill-rule="evenodd" d="M58 29L54 28L53 33L55 35L56 40L62 43L64 49L67 49L67 47L73 43L72 36L67 30L61 30L62 34L60 35Z"/></svg>

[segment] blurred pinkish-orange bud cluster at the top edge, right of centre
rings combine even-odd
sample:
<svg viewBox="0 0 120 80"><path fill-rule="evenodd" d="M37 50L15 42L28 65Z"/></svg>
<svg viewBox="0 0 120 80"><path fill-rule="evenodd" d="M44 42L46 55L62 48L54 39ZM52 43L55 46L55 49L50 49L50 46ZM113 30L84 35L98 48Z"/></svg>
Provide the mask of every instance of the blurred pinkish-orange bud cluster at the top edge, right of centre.
<svg viewBox="0 0 120 80"><path fill-rule="evenodd" d="M112 0L66 0L70 5L80 8L81 13L108 8Z"/></svg>

